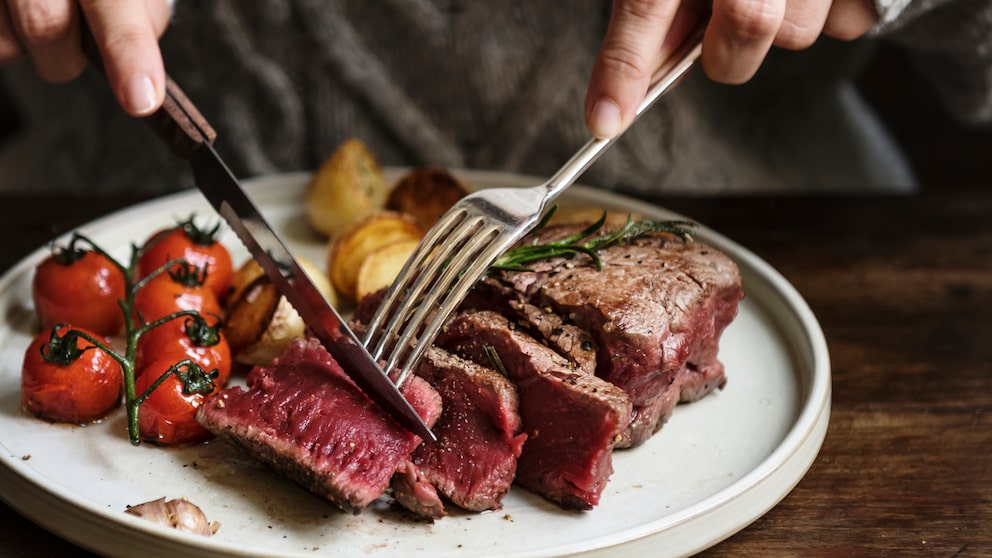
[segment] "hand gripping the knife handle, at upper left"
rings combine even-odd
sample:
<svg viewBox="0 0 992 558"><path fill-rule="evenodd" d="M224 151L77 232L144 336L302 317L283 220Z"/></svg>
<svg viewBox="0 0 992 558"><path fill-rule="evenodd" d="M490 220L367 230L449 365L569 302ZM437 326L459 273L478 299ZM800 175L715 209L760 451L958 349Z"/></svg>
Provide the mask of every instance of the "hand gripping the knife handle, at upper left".
<svg viewBox="0 0 992 558"><path fill-rule="evenodd" d="M166 0L0 0L0 64L26 55L42 79L74 79L86 67L88 25L118 102L145 116L165 97L158 37L169 16Z"/></svg>

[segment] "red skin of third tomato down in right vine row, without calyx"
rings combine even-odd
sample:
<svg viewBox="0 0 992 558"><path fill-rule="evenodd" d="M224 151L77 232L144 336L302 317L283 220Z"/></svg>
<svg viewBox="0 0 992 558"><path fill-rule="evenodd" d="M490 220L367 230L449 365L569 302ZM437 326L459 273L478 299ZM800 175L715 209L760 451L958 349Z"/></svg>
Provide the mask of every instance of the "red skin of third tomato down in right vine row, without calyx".
<svg viewBox="0 0 992 558"><path fill-rule="evenodd" d="M216 317L205 318L215 324L218 320ZM187 317L184 320L175 321L185 324L190 320L192 318ZM231 377L233 359L231 346L223 333L218 334L217 343L199 346L182 330L182 327L177 331L175 327L172 327L173 325L172 323L164 324L141 336L134 357L135 371L138 374L142 373L148 365L156 360L172 360L175 363L189 358L207 372L217 370L217 378L214 380L217 385L227 384L227 380Z"/></svg>

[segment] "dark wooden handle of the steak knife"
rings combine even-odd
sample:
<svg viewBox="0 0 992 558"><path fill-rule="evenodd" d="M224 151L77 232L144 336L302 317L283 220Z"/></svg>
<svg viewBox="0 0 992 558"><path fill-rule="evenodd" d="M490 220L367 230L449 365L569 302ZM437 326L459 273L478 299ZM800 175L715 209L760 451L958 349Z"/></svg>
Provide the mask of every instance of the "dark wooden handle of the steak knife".
<svg viewBox="0 0 992 558"><path fill-rule="evenodd" d="M89 61L106 75L103 57L96 40L87 26L83 26L83 52ZM213 143L217 132L189 100L175 81L166 75L165 101L161 108L142 118L165 141L176 155L192 159L203 148L203 143Z"/></svg>

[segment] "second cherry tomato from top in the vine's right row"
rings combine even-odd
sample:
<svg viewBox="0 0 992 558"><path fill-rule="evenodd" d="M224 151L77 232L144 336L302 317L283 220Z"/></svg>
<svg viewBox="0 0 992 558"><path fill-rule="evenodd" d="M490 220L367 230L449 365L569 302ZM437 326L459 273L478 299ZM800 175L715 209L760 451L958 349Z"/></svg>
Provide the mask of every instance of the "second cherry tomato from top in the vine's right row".
<svg viewBox="0 0 992 558"><path fill-rule="evenodd" d="M220 316L221 306L213 291L203 284L203 271L192 265L178 266L167 273L160 273L148 280L134 294L135 320L141 323L154 322L169 314L182 310L195 310L204 316ZM184 317L178 317L169 324L177 332L182 332Z"/></svg>

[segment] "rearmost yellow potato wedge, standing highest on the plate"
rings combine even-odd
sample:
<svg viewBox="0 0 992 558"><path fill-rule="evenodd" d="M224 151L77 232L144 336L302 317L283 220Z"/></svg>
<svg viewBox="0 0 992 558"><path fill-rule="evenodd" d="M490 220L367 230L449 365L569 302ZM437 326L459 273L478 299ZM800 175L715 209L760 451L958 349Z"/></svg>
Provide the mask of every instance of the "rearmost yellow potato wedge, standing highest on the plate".
<svg viewBox="0 0 992 558"><path fill-rule="evenodd" d="M388 195L375 157L362 141L349 139L314 173L304 204L310 224L334 236L381 210Z"/></svg>

